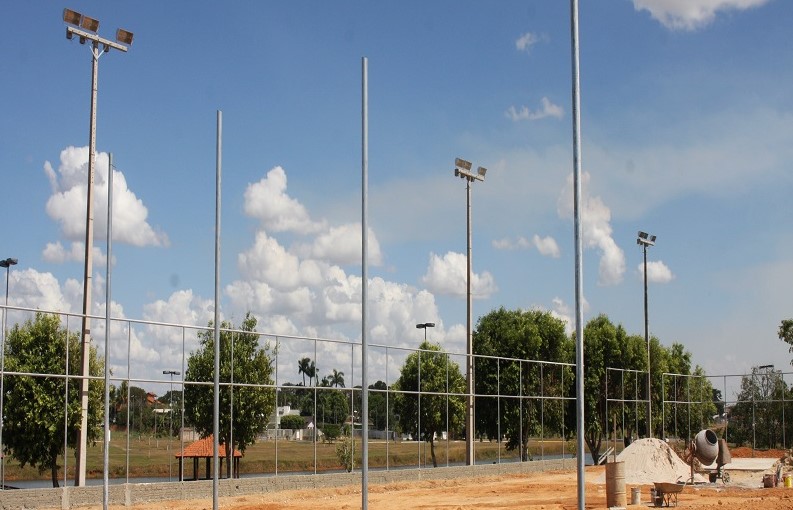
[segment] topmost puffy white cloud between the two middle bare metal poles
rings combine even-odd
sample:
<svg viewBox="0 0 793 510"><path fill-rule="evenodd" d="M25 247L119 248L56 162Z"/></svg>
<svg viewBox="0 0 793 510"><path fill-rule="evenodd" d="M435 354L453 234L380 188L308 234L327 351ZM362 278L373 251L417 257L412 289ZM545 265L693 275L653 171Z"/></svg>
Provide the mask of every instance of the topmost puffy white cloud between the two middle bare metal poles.
<svg viewBox="0 0 793 510"><path fill-rule="evenodd" d="M261 221L267 230L311 234L324 228L311 220L303 204L286 194L286 172L280 166L249 184L244 201L245 214Z"/></svg>

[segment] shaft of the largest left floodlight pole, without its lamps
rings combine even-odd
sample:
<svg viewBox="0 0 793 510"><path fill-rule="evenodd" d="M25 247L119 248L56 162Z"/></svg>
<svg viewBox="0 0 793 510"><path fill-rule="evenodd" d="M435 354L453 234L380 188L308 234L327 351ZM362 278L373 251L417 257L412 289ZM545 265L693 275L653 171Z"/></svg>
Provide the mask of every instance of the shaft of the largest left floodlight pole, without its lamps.
<svg viewBox="0 0 793 510"><path fill-rule="evenodd" d="M99 43L93 41L91 48L91 121L88 141L88 190L86 192L85 213L85 271L83 272L83 327L82 327L82 365L80 368L80 442L77 444L77 465L75 466L74 485L85 485L85 455L88 447L88 375L91 350L91 284L93 281L94 247L94 167L96 165L96 96L98 92Z"/></svg>

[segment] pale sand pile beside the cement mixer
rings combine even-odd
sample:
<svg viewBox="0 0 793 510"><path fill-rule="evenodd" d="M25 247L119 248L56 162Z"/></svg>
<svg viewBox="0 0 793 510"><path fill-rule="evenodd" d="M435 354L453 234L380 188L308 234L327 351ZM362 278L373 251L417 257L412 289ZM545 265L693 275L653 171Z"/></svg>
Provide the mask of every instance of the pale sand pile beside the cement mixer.
<svg viewBox="0 0 793 510"><path fill-rule="evenodd" d="M683 482L691 477L691 466L660 439L638 439L617 455L625 463L625 483L652 484L653 482ZM695 474L695 482L704 482ZM603 474L603 481L606 475Z"/></svg>

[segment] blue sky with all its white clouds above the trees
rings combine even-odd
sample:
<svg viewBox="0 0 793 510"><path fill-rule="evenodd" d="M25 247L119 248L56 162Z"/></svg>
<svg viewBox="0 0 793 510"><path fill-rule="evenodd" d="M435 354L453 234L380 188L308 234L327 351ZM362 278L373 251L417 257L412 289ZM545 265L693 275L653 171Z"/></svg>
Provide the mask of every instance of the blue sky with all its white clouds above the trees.
<svg viewBox="0 0 793 510"><path fill-rule="evenodd" d="M793 314L793 8L784 0L580 2L584 320L649 328L710 375L774 364ZM0 258L9 305L80 313L91 56L62 9L135 34L99 59L93 313L361 338L361 79L368 59L368 341L465 352L473 315L550 310L574 327L569 2L13 2L0 30ZM13 322L13 314L9 319ZM92 328L94 342L103 324ZM100 336L101 334L101 336ZM110 363L159 378L170 328L111 328ZM184 340L195 350L193 332ZM295 356L310 355L303 342ZM101 349L101 342L100 342ZM350 354L324 348L321 375ZM336 351L345 351L340 353ZM312 356L313 357L313 356ZM298 382L296 359L279 381ZM279 365L280 367L280 365ZM370 380L382 378L375 363ZM348 378L355 378L348 372ZM392 376L393 379L393 376ZM349 379L348 379L349 380ZM349 384L348 384L349 385Z"/></svg>

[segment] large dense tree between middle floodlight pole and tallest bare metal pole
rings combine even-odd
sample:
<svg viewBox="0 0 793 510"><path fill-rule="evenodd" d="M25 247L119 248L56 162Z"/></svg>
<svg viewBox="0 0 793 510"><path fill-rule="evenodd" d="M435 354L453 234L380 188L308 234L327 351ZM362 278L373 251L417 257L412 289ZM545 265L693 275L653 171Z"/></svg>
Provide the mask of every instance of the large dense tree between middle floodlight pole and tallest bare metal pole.
<svg viewBox="0 0 793 510"><path fill-rule="evenodd" d="M562 398L572 387L572 368L519 360L569 362L573 350L564 322L550 312L502 307L479 319L474 354L483 357L475 360L474 381L479 395L476 423L480 434L499 441L506 437L506 449L519 450L521 460L530 458L530 437L540 433L561 435ZM560 398L546 402L548 396Z"/></svg>

